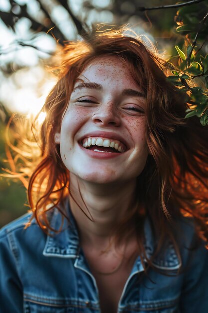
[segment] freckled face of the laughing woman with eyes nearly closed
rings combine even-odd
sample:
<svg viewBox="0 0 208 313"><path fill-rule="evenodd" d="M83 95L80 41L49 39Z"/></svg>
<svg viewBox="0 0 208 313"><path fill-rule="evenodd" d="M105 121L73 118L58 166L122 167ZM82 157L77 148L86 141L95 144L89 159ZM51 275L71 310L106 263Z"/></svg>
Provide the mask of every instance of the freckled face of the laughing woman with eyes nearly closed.
<svg viewBox="0 0 208 313"><path fill-rule="evenodd" d="M124 63L97 58L76 80L60 133L68 170L93 183L136 180L148 149L145 99Z"/></svg>

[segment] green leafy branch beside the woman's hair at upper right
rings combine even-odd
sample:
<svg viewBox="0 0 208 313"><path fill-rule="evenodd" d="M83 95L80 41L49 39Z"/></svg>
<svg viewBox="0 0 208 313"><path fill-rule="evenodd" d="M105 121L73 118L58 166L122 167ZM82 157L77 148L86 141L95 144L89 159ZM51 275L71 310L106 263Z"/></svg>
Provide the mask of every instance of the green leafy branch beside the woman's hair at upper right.
<svg viewBox="0 0 208 313"><path fill-rule="evenodd" d="M208 125L208 54L203 45L208 32L208 4L205 11L194 5L177 11L176 31L183 39L182 47L175 45L178 64L167 79L188 95L185 118L197 116L203 126ZM204 15L203 15L204 14ZM174 59L174 57L173 57ZM170 60L172 61L172 59Z"/></svg>

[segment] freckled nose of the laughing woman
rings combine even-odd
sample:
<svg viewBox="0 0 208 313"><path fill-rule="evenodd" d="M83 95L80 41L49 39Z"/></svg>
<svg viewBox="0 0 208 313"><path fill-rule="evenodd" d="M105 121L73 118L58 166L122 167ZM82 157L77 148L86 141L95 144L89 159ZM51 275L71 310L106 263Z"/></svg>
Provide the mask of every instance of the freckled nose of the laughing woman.
<svg viewBox="0 0 208 313"><path fill-rule="evenodd" d="M114 103L100 105L92 115L92 121L101 126L113 125L118 127L121 123L119 112Z"/></svg>

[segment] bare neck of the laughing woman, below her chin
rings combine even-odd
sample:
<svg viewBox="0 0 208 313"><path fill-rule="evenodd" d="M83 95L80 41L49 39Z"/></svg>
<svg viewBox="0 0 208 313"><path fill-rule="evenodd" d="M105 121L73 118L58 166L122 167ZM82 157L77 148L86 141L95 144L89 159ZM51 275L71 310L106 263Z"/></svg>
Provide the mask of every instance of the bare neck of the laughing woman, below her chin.
<svg viewBox="0 0 208 313"><path fill-rule="evenodd" d="M136 180L98 185L70 175L70 205L78 225L81 244L107 247L113 230L135 205ZM125 234L124 234L125 237Z"/></svg>

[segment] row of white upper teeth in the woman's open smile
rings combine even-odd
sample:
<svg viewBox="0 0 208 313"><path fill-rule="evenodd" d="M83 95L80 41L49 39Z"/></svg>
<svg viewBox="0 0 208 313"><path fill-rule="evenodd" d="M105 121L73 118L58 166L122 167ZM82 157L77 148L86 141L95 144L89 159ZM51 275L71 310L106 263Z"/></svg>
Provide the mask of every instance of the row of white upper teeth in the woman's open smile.
<svg viewBox="0 0 208 313"><path fill-rule="evenodd" d="M90 147L91 145L97 145L97 146L111 147L119 152L125 151L124 144L114 139L89 137L89 138L85 138L82 141L82 144L84 148Z"/></svg>

